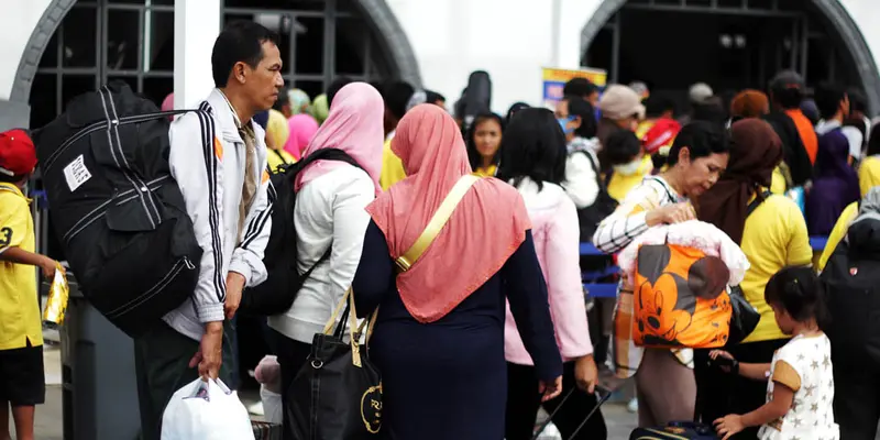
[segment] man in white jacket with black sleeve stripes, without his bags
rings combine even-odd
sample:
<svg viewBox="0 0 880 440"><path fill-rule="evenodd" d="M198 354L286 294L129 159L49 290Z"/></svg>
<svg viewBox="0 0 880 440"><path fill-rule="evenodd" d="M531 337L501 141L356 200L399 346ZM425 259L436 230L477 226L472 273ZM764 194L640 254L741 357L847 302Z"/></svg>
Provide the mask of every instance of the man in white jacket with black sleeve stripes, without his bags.
<svg viewBox="0 0 880 440"><path fill-rule="evenodd" d="M168 163L202 256L191 296L135 339L146 440L160 439L163 411L179 387L199 376L229 380L232 336L223 323L245 286L267 276L267 153L252 118L272 108L284 85L277 36L253 22L232 23L217 37L211 64L217 88L169 131Z"/></svg>

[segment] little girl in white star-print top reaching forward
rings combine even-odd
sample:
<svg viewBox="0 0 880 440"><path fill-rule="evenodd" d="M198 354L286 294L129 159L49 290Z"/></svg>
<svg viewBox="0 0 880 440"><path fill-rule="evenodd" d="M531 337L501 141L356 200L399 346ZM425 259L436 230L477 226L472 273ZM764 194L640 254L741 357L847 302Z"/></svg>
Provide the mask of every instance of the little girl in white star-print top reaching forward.
<svg viewBox="0 0 880 440"><path fill-rule="evenodd" d="M787 267L770 278L765 299L773 309L779 328L793 338L773 355L771 364L740 364L724 351L711 353L726 359L729 370L755 381L768 380L767 403L746 415L715 420L715 428L729 439L748 427L761 429L761 440L838 440L834 422L832 345L820 329L825 316L824 290L811 267Z"/></svg>

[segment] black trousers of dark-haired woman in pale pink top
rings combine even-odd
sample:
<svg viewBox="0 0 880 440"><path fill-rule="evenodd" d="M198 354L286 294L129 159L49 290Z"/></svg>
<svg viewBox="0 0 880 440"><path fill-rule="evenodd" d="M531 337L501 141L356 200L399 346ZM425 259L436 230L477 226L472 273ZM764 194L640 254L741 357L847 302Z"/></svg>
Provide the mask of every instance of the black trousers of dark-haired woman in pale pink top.
<svg viewBox="0 0 880 440"><path fill-rule="evenodd" d="M571 437L587 414L596 407L596 396L576 389L574 362L563 364L562 394L544 404L538 394L538 377L531 365L507 364L507 414L505 416L506 440L530 440L535 431L538 408L553 413L562 399L574 389L559 413L553 416L553 425L559 428L564 440L604 440L608 437L605 418L597 410L587 420L576 437Z"/></svg>

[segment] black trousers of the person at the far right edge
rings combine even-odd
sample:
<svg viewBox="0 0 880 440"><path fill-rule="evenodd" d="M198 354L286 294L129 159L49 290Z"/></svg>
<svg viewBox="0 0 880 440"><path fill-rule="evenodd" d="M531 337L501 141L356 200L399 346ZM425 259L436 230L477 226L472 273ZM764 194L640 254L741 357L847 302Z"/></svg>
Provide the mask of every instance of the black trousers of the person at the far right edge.
<svg viewBox="0 0 880 440"><path fill-rule="evenodd" d="M832 358L834 421L840 440L873 439L880 422L880 366L864 355L858 361Z"/></svg>

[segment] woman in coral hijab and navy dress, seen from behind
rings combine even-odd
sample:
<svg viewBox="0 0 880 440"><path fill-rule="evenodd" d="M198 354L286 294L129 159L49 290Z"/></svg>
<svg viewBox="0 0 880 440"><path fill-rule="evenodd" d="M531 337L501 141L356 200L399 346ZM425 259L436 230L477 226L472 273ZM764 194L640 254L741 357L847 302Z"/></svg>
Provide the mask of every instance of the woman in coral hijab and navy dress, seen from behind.
<svg viewBox="0 0 880 440"><path fill-rule="evenodd" d="M472 169L459 128L437 106L410 110L392 151L407 178L367 207L372 221L353 284L361 316L380 307L371 340L383 380L380 437L502 439L505 296L543 398L558 396L562 385L562 360L525 204L501 180L476 182L433 243L398 274L395 258L416 242L455 183Z"/></svg>

